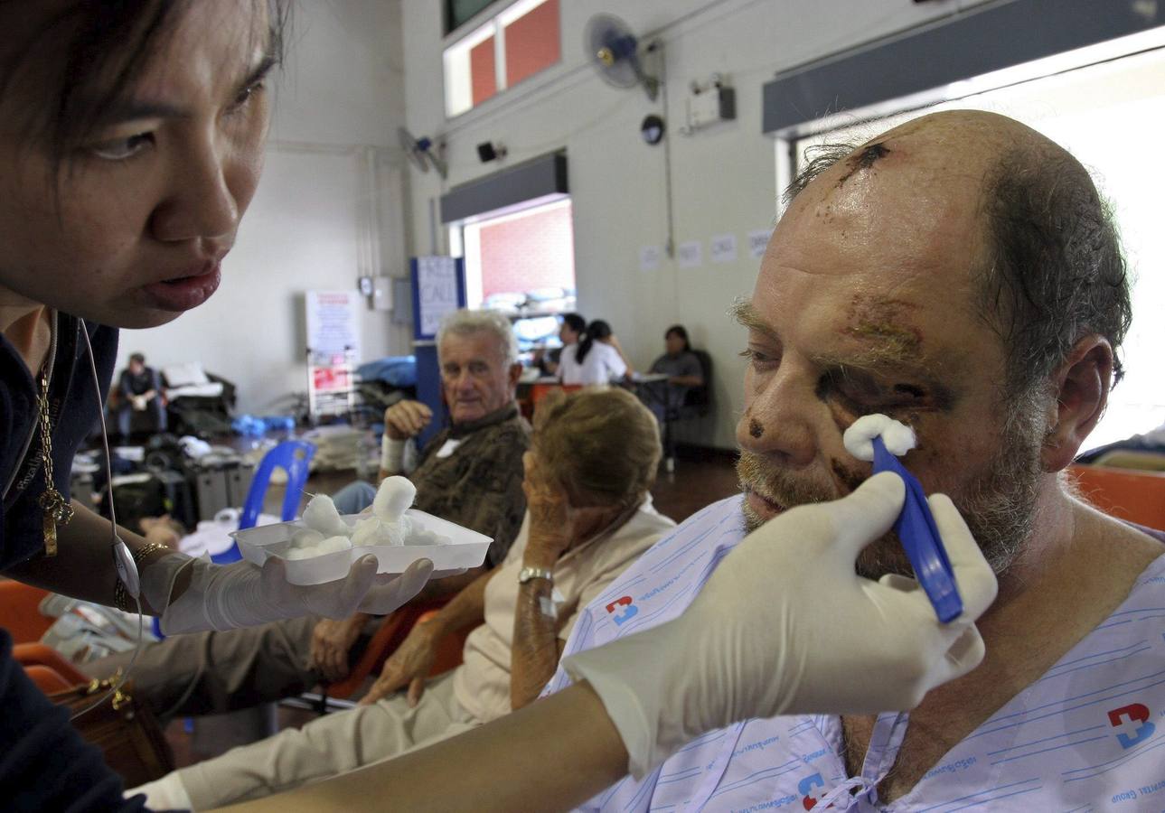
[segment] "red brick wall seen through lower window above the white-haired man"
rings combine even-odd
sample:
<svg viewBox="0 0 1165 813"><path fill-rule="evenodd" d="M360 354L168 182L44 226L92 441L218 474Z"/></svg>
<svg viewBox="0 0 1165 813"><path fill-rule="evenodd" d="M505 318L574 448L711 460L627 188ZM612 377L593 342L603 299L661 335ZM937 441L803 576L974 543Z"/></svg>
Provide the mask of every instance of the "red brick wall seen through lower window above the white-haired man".
<svg viewBox="0 0 1165 813"><path fill-rule="evenodd" d="M574 227L560 206L481 227L481 294L574 288Z"/></svg>

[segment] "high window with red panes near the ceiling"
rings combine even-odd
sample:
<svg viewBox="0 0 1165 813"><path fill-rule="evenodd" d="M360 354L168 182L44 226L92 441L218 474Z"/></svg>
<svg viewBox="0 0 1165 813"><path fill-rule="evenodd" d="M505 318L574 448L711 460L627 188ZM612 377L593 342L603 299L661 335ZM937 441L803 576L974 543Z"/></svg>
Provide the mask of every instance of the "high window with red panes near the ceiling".
<svg viewBox="0 0 1165 813"><path fill-rule="evenodd" d="M518 0L445 49L445 114L460 115L562 58L559 0Z"/></svg>

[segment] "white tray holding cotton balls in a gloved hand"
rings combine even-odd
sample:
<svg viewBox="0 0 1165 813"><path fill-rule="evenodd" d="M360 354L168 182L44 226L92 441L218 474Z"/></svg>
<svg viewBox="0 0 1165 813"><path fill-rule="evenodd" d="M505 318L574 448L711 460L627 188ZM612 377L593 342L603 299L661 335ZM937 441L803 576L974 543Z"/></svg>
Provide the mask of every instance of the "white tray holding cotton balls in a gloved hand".
<svg viewBox="0 0 1165 813"><path fill-rule="evenodd" d="M409 509L404 515L419 522L424 530L432 531L439 537L449 537L451 542L443 545L361 545L311 559L288 559L285 554L291 546L291 535L305 528L301 519L248 528L231 536L239 543L239 552L247 561L262 565L269 556L283 559L288 581L292 585L322 585L343 579L352 568L352 563L368 553L376 554L379 573L403 573L417 559L431 559L435 571L478 567L486 560L486 551L489 550L493 539L485 533L471 531L415 509ZM369 514L348 514L341 518L348 525L355 525L358 521L367 519L369 516Z"/></svg>

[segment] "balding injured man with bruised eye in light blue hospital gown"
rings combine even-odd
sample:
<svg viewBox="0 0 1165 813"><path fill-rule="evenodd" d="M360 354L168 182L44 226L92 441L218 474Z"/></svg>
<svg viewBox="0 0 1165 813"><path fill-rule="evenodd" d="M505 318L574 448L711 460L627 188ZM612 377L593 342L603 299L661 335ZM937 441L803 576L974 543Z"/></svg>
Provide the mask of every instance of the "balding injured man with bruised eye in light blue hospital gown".
<svg viewBox="0 0 1165 813"><path fill-rule="evenodd" d="M868 478L842 433L881 412L913 429L903 464L951 496L998 575L979 622L987 655L909 714L750 720L586 808L1162 810L1165 535L1100 514L1064 475L1120 377L1130 321L1087 172L1016 121L948 112L826 148L789 195L735 309L743 493L629 567L582 610L565 653L614 641L603 658L634 658L626 636L682 613L749 529ZM911 573L892 535L859 571ZM821 579L818 623L772 635L860 648L839 594ZM659 704L682 664L645 666ZM546 693L570 681L559 669ZM619 726L635 709L608 713Z"/></svg>

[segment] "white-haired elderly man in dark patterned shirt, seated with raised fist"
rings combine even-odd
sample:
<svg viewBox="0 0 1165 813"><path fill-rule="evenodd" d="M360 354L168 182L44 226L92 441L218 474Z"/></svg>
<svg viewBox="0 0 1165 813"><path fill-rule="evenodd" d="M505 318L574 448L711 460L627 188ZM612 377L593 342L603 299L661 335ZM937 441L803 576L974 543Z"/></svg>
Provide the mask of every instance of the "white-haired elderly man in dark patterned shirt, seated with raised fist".
<svg viewBox="0 0 1165 813"><path fill-rule="evenodd" d="M415 601L456 595L502 563L525 511L522 454L530 444L530 426L514 400L521 365L509 320L492 311L456 311L440 325L437 354L451 425L426 444L409 475L417 487L414 507L494 542L485 565L431 581ZM431 420L429 408L416 401L386 410L381 479L401 471L404 444ZM341 512L359 510L361 493L375 494L368 483L345 490L337 495ZM367 496L365 504L370 503ZM358 642L379 623L363 614L344 621L306 616L175 636L142 651L133 670L134 686L163 715L247 708L298 694L322 680L343 679L359 653ZM107 677L128 662L129 653L116 655L84 669Z"/></svg>

